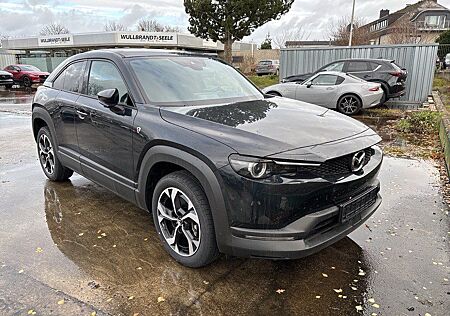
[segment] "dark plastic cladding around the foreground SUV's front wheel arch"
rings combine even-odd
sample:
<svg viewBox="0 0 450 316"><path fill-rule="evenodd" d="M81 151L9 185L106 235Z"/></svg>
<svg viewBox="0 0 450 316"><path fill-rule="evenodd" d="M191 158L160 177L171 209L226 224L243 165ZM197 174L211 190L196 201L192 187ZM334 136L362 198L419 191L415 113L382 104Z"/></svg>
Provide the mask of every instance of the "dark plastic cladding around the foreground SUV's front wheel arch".
<svg viewBox="0 0 450 316"><path fill-rule="evenodd" d="M158 170L158 167L166 169ZM147 189L156 185L151 176L156 175L158 178L164 172L177 170L188 171L200 183L211 208L217 245L219 250L222 251L221 244L226 242L225 238L229 237L230 234L225 201L219 184L220 180L206 162L193 154L164 145L150 148L142 160L139 172L138 190L136 192L138 205L151 212L152 196L150 194L153 195L153 191L147 192ZM152 183L152 181L155 183Z"/></svg>

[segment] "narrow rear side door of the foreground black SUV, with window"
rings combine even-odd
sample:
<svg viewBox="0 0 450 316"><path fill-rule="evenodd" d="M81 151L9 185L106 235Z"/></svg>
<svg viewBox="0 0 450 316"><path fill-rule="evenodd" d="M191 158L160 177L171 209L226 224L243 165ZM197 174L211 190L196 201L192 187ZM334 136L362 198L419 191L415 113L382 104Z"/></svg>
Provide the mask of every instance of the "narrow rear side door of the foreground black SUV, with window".
<svg viewBox="0 0 450 316"><path fill-rule="evenodd" d="M58 150L64 165L79 172L78 140L75 130L76 105L82 88L86 61L69 64L53 81L58 90L54 100L49 101L49 113L55 126Z"/></svg>

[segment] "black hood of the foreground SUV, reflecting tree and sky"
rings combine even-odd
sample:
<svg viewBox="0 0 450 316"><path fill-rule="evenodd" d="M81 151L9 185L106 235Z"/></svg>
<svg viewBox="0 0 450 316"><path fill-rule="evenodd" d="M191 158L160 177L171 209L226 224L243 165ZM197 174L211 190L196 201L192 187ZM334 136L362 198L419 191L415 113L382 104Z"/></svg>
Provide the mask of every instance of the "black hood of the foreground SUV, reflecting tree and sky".
<svg viewBox="0 0 450 316"><path fill-rule="evenodd" d="M221 105L163 107L160 112L167 122L220 141L241 155L262 157L371 131L335 111L279 97Z"/></svg>

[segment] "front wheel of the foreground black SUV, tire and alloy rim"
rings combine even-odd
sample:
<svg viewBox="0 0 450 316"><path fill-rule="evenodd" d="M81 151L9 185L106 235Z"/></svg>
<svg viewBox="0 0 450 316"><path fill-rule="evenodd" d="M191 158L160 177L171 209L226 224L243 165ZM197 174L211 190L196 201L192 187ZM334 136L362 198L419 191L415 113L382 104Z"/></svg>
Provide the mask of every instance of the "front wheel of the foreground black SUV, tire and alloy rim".
<svg viewBox="0 0 450 316"><path fill-rule="evenodd" d="M208 199L197 179L187 171L168 174L157 183L152 214L164 248L177 262L200 268L218 257Z"/></svg>

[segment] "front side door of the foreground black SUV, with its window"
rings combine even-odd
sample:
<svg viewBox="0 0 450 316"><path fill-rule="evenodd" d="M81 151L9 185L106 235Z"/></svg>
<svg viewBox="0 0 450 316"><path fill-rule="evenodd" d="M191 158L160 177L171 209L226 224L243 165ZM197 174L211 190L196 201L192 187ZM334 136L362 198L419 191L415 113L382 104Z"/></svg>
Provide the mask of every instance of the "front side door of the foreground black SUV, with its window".
<svg viewBox="0 0 450 316"><path fill-rule="evenodd" d="M80 163L86 177L126 198L132 197L134 182L132 132L137 110L126 82L109 60L92 60L84 94L77 102L77 138ZM97 94L117 89L119 103L108 107Z"/></svg>

